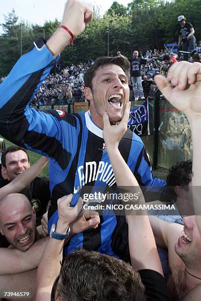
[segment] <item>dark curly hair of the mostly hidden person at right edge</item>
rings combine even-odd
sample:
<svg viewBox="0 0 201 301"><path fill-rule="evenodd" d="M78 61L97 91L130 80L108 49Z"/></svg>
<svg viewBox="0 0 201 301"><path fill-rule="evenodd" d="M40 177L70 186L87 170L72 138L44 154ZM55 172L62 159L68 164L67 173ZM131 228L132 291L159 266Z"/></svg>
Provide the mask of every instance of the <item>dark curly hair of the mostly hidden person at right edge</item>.
<svg viewBox="0 0 201 301"><path fill-rule="evenodd" d="M185 186L191 181L192 160L181 161L174 164L167 175L168 186Z"/></svg>

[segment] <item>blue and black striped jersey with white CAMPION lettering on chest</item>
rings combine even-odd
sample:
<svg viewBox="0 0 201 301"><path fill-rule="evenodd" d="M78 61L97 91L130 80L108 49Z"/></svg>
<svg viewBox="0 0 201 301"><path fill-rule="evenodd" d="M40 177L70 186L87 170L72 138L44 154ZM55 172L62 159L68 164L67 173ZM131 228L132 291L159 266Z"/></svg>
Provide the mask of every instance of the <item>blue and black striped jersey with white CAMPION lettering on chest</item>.
<svg viewBox="0 0 201 301"><path fill-rule="evenodd" d="M102 138L102 130L90 113L38 111L30 108L34 94L49 74L55 59L42 39L17 61L0 85L0 134L13 143L49 157L51 207L48 230L58 220L58 198L73 193L74 206L83 186L115 186L116 181ZM128 130L119 144L124 160L138 183L163 186L153 178L141 139ZM79 246L129 260L125 216L103 211L97 229L74 235L66 254Z"/></svg>

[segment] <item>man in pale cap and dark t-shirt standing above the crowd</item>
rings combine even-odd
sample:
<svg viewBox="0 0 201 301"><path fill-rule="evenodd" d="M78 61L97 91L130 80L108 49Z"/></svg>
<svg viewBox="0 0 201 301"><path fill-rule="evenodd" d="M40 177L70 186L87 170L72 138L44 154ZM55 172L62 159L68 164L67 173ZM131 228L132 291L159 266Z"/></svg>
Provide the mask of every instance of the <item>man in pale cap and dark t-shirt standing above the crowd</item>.
<svg viewBox="0 0 201 301"><path fill-rule="evenodd" d="M186 18L181 15L177 18L179 22L178 47L182 45L182 51L194 52L196 47L195 30L193 25L186 22ZM184 54L184 60L188 60L188 54Z"/></svg>

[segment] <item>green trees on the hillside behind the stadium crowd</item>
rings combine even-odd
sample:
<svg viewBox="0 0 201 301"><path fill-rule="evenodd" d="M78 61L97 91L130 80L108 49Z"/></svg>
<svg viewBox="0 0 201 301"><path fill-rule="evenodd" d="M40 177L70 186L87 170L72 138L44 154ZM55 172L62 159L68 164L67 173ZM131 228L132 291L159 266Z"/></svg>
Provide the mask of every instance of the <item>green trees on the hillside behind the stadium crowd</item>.
<svg viewBox="0 0 201 301"><path fill-rule="evenodd" d="M94 19L86 30L62 53L63 66L69 63L87 62L99 56L115 56L121 51L131 56L134 49L143 53L149 48L164 48L164 43L178 40L177 17L185 15L195 29L197 41L201 40L200 0L133 0L127 7L114 1L104 16L96 7ZM20 57L20 24L14 10L4 16L0 35L0 76L7 75ZM22 23L22 53L33 41L42 36L48 39L58 28L60 22L45 21L43 26Z"/></svg>

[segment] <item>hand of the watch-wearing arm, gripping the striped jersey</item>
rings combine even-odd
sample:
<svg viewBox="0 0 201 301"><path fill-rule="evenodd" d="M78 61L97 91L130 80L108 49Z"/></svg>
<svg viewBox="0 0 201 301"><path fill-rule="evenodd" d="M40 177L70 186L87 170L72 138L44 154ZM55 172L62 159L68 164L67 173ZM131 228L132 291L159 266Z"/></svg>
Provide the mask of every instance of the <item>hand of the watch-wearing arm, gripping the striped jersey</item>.
<svg viewBox="0 0 201 301"><path fill-rule="evenodd" d="M82 199L79 198L77 204L74 207L70 207L70 202L72 200L72 194L68 194L58 199L58 214L60 223L69 225L78 216L78 213L82 207Z"/></svg>

